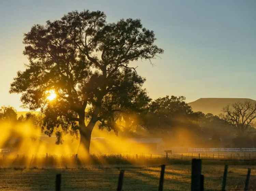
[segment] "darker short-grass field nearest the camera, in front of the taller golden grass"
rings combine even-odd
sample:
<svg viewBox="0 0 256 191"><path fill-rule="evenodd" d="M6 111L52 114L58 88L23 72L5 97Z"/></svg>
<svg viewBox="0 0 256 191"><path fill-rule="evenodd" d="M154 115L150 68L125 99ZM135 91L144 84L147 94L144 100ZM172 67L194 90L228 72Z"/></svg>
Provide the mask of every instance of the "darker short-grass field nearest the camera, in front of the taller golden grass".
<svg viewBox="0 0 256 191"><path fill-rule="evenodd" d="M55 175L61 173L61 190L113 191L117 188L119 169L125 170L124 191L157 191L160 167L134 165L94 165L80 168L0 168L0 190L54 190ZM250 190L256 190L255 166L229 166L227 190L243 190L247 168L251 168ZM221 190L223 165L202 165L205 190ZM164 190L189 191L191 166L166 167Z"/></svg>

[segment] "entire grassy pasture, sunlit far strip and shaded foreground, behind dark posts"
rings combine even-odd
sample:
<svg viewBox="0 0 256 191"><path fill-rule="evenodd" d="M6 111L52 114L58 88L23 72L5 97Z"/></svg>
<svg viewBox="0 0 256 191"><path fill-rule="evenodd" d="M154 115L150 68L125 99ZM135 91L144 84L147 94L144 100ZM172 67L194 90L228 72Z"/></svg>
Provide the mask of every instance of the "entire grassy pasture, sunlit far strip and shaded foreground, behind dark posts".
<svg viewBox="0 0 256 191"><path fill-rule="evenodd" d="M235 156L233 154L233 156ZM214 157L201 154L205 190L221 190L224 165L228 164L226 190L243 190L247 168L251 168L250 190L256 190L256 160L248 157ZM247 154L248 156L248 154ZM195 155L193 157L196 157ZM74 156L19 156L0 159L0 191L54 190L55 176L62 175L62 190L113 191L119 170L125 170L124 191L158 190L160 164L167 164L164 190L190 190L191 154L92 155L89 161Z"/></svg>

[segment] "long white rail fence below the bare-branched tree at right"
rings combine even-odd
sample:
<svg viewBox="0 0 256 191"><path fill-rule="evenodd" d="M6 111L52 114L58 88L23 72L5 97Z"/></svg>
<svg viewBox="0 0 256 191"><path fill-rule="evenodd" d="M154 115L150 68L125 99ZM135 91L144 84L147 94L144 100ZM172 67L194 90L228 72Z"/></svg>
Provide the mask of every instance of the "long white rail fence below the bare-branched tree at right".
<svg viewBox="0 0 256 191"><path fill-rule="evenodd" d="M256 152L256 148L188 148L188 152Z"/></svg>

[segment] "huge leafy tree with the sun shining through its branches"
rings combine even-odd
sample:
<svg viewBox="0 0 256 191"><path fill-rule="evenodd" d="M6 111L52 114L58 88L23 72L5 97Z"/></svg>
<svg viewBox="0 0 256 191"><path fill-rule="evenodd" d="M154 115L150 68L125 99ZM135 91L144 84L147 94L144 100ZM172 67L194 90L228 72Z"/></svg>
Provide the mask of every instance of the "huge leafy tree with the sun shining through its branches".
<svg viewBox="0 0 256 191"><path fill-rule="evenodd" d="M60 128L79 132L80 149L88 152L97 122L100 128L117 131L120 113L140 112L149 101L142 88L145 79L130 63L151 62L163 53L154 44L154 32L143 28L139 19L105 19L100 11L73 11L34 25L23 41L29 63L17 72L10 89L22 94L25 107L41 109L47 135ZM49 101L52 91L56 98Z"/></svg>

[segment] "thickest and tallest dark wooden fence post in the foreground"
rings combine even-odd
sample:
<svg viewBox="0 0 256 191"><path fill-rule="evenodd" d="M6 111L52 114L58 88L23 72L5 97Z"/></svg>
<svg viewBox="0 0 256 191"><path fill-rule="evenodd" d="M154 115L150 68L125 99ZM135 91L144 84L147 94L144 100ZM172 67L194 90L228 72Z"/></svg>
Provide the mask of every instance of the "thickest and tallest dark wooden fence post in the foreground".
<svg viewBox="0 0 256 191"><path fill-rule="evenodd" d="M202 160L195 159L195 158L192 159L191 191L200 191L201 171L202 171Z"/></svg>

